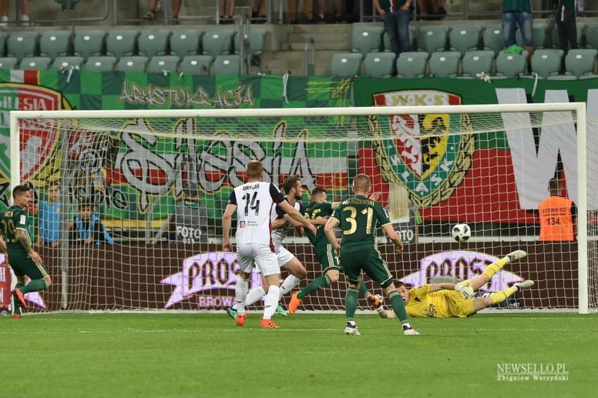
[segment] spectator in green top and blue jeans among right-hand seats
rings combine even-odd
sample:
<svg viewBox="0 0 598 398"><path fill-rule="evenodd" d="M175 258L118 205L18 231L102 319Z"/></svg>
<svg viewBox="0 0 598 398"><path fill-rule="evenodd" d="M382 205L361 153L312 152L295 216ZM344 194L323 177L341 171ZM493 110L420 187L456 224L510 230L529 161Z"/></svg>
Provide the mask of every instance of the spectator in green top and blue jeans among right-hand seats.
<svg viewBox="0 0 598 398"><path fill-rule="evenodd" d="M523 37L523 47L528 51L529 59L533 55L533 15L530 0L502 1L503 46L515 44L516 27L519 26Z"/></svg>

